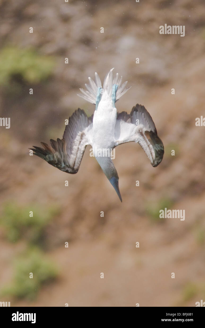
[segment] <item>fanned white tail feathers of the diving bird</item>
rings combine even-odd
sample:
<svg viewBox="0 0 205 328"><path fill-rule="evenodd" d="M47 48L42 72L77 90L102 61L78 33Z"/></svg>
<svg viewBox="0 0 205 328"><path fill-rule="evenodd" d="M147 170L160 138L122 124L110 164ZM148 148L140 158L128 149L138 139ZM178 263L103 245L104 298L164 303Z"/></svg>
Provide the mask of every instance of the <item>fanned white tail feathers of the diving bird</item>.
<svg viewBox="0 0 205 328"><path fill-rule="evenodd" d="M118 85L117 92L116 92L116 101L122 97L125 92L127 92L131 87L126 87L127 81L122 83L122 76L119 77L119 74L117 73L115 77L113 78L112 71L114 68L112 68L104 78L103 83L103 90L106 90L108 95L111 97L112 95L112 86L113 84ZM80 91L82 94L78 94L81 98L87 100L91 104L96 104L96 98L99 88L102 88L102 83L100 80L100 77L98 73L95 72L95 81L91 79L91 77L88 77L90 84L85 84L87 90L83 90L80 88Z"/></svg>

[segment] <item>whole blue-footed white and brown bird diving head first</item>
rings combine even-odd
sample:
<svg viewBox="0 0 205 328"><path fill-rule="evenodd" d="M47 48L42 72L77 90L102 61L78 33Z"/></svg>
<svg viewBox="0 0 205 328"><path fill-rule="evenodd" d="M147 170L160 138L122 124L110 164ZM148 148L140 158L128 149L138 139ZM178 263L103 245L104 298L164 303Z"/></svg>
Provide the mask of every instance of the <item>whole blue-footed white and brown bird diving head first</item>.
<svg viewBox="0 0 205 328"><path fill-rule="evenodd" d="M113 78L112 71L106 74L103 87L95 73L95 82L89 77L89 85L85 84L87 90L80 89L82 94L79 96L95 105L94 114L87 117L84 110L78 108L70 116L63 138L57 138L57 141L50 139L51 146L44 142L41 142L43 148L33 146L30 149L34 155L61 171L75 174L87 145L94 150L113 150L120 144L134 141L143 148L153 167L162 161L163 143L145 107L137 104L130 114L117 112L116 101L131 87L126 87L127 81L122 84L122 76L119 77L118 73ZM95 152L95 158L122 202L116 168L111 156L106 156L105 152L102 154L99 156Z"/></svg>

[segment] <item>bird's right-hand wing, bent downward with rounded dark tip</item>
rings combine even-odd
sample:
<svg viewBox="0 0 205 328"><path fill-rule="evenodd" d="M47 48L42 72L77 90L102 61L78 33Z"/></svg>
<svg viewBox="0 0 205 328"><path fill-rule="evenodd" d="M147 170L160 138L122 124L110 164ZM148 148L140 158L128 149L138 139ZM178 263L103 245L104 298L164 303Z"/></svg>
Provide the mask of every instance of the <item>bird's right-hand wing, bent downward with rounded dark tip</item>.
<svg viewBox="0 0 205 328"><path fill-rule="evenodd" d="M117 113L115 139L115 147L125 142L138 142L154 167L162 161L164 155L162 140L157 135L150 114L142 105L137 104L130 114Z"/></svg>

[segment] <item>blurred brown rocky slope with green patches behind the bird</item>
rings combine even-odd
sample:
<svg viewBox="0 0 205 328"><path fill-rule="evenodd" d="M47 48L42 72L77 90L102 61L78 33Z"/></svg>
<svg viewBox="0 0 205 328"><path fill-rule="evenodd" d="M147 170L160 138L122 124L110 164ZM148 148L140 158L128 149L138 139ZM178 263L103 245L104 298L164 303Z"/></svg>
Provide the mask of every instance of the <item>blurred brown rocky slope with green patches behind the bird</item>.
<svg viewBox="0 0 205 328"><path fill-rule="evenodd" d="M0 0L0 22L0 116L11 117L0 127L0 301L205 301L205 127L195 126L205 115L203 0ZM185 25L185 36L160 35L164 24ZM157 168L135 143L116 148L122 204L89 146L74 175L28 150L62 138L78 107L91 115L79 88L112 67L132 86L117 110L144 105L165 147ZM165 207L185 220L159 219Z"/></svg>

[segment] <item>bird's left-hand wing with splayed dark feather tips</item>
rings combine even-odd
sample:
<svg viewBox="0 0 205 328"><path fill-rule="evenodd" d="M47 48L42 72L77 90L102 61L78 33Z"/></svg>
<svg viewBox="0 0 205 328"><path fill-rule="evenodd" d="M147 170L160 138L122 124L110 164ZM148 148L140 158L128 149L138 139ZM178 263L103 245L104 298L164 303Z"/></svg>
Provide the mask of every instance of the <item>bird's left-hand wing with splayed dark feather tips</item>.
<svg viewBox="0 0 205 328"><path fill-rule="evenodd" d="M63 138L51 139L51 146L41 142L43 148L33 146L34 155L39 156L59 170L75 174L78 172L86 145L91 143L93 115L87 117L80 108L69 118Z"/></svg>

